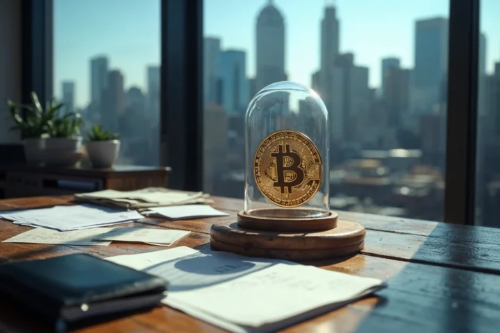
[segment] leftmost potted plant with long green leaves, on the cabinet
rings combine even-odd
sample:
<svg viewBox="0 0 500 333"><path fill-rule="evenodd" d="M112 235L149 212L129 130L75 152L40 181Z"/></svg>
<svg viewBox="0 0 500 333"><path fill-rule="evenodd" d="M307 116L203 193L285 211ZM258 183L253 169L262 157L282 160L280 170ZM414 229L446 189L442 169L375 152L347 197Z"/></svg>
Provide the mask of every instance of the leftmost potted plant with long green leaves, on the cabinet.
<svg viewBox="0 0 500 333"><path fill-rule="evenodd" d="M35 92L31 93L31 102L32 105L23 105L7 101L10 115L15 123L15 126L12 126L10 130L21 132L26 162L40 163L44 162L44 151L47 137L49 137L51 120L63 107L63 104L56 104L54 99L51 99L43 110Z"/></svg>

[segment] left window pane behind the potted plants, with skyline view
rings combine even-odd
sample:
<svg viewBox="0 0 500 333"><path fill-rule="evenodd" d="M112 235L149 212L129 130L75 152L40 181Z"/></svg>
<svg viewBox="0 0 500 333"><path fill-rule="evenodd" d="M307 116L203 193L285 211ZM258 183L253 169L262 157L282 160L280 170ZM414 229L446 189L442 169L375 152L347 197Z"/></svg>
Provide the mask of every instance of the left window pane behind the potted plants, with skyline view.
<svg viewBox="0 0 500 333"><path fill-rule="evenodd" d="M158 165L160 1L54 0L53 92L119 133L119 164Z"/></svg>

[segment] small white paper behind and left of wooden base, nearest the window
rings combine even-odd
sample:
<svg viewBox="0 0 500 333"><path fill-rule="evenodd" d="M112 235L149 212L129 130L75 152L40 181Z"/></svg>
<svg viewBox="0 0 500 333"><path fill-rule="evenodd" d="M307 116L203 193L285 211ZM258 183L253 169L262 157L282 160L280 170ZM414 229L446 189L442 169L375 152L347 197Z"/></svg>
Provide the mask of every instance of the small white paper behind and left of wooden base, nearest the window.
<svg viewBox="0 0 500 333"><path fill-rule="evenodd" d="M160 216L172 220L181 219L198 219L201 217L214 216L229 216L229 214L216 210L209 205L180 205L169 207L151 207L146 212L142 212L145 216Z"/></svg>

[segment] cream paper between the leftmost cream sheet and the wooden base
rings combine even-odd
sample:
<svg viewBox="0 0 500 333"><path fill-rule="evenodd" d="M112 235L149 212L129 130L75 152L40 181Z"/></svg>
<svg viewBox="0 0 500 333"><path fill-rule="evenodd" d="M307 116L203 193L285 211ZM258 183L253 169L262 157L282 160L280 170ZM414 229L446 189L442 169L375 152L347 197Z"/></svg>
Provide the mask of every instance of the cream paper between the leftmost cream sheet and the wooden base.
<svg viewBox="0 0 500 333"><path fill-rule="evenodd" d="M169 246L181 239L189 231L153 228L113 228L105 234L98 234L94 239L101 241L139 241L148 244Z"/></svg>

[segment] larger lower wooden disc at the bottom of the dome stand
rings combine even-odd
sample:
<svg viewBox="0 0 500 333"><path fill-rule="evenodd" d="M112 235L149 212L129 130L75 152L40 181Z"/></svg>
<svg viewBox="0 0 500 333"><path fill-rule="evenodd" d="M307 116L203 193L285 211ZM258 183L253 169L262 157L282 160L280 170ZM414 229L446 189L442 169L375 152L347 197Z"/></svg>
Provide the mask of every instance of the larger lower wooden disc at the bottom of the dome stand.
<svg viewBox="0 0 500 333"><path fill-rule="evenodd" d="M318 260L358 253L365 245L365 227L338 221L337 228L322 232L273 232L242 228L239 223L213 225L213 248L238 255L289 260Z"/></svg>

